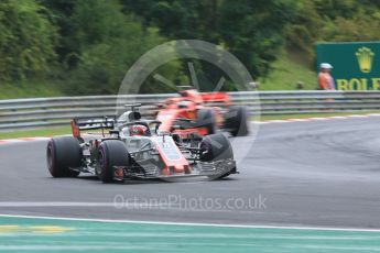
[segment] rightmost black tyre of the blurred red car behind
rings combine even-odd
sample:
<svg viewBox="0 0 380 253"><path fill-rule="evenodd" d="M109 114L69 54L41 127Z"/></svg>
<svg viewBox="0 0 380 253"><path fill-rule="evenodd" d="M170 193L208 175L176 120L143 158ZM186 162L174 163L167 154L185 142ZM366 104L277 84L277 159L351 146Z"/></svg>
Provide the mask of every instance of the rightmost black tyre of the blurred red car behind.
<svg viewBox="0 0 380 253"><path fill-rule="evenodd" d="M229 108L226 116L225 128L228 129L234 136L246 136L248 134L247 107L232 106Z"/></svg>

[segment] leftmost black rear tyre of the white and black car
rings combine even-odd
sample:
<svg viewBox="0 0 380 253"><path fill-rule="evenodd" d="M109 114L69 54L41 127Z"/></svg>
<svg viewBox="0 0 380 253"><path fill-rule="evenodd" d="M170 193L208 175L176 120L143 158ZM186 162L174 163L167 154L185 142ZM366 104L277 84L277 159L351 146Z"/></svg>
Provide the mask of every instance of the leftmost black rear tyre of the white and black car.
<svg viewBox="0 0 380 253"><path fill-rule="evenodd" d="M80 168L83 151L77 139L53 138L46 147L47 167L53 177L76 177Z"/></svg>

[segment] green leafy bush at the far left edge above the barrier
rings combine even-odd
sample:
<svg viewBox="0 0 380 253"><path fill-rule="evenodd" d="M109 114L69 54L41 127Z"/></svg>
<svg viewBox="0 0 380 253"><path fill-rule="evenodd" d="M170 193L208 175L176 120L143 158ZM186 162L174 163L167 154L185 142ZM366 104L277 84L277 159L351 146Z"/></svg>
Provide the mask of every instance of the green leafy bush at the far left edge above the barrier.
<svg viewBox="0 0 380 253"><path fill-rule="evenodd" d="M57 40L48 10L34 1L2 0L0 31L0 79L25 79L48 73Z"/></svg>

